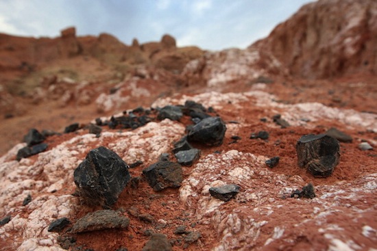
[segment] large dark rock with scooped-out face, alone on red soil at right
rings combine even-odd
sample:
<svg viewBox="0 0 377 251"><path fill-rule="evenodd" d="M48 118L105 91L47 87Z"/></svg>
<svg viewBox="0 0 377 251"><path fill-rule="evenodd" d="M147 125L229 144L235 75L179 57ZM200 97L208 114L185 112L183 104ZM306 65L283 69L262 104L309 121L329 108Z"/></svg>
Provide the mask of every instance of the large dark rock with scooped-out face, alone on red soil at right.
<svg viewBox="0 0 377 251"><path fill-rule="evenodd" d="M304 135L297 141L298 166L306 168L315 177L328 177L338 165L339 142L325 134Z"/></svg>

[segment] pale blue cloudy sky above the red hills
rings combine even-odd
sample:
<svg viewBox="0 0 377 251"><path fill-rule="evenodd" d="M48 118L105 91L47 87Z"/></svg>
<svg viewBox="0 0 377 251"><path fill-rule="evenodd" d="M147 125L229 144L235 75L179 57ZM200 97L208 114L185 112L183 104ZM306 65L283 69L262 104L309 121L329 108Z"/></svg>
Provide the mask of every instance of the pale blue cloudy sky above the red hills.
<svg viewBox="0 0 377 251"><path fill-rule="evenodd" d="M0 0L0 32L19 36L60 36L106 32L131 44L158 41L163 34L178 46L245 48L294 14L309 0Z"/></svg>

